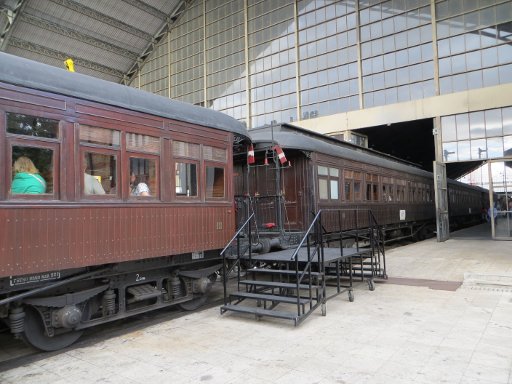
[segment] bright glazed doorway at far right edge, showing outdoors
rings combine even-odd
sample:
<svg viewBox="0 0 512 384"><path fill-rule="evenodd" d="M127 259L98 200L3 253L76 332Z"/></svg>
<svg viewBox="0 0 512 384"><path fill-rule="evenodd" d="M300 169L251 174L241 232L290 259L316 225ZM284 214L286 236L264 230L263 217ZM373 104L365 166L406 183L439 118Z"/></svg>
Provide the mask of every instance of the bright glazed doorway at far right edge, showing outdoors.
<svg viewBox="0 0 512 384"><path fill-rule="evenodd" d="M512 161L490 162L489 175L492 237L512 240Z"/></svg>

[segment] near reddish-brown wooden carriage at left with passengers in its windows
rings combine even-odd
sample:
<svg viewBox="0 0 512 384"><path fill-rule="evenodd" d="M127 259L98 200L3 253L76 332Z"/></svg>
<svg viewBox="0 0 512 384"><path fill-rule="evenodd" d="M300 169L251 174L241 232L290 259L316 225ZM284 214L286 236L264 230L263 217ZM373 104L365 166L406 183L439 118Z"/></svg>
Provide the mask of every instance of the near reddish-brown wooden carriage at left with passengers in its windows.
<svg viewBox="0 0 512 384"><path fill-rule="evenodd" d="M0 319L11 332L53 350L96 324L202 304L234 233L244 126L7 54L0 67ZM20 158L44 193L23 189Z"/></svg>

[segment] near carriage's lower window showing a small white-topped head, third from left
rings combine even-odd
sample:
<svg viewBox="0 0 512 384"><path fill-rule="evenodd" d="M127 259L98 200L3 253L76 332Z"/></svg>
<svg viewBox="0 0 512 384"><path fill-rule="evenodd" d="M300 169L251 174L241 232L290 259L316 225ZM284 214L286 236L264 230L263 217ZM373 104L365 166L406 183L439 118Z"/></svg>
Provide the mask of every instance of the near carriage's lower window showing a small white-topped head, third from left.
<svg viewBox="0 0 512 384"><path fill-rule="evenodd" d="M130 197L158 197L155 159L130 157Z"/></svg>

